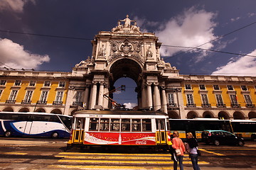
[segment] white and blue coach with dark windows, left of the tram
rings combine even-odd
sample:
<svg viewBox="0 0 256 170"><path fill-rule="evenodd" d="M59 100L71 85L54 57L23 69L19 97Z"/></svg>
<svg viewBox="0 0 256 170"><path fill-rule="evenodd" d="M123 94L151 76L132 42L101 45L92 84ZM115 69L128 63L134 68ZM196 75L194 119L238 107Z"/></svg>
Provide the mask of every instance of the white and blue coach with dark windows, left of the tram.
<svg viewBox="0 0 256 170"><path fill-rule="evenodd" d="M0 112L4 137L70 137L72 116L53 113Z"/></svg>

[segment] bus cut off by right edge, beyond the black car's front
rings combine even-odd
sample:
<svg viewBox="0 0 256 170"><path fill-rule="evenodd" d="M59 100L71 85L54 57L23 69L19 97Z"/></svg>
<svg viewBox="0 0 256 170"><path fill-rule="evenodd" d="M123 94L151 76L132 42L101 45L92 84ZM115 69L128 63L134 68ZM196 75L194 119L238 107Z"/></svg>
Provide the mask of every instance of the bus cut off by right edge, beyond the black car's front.
<svg viewBox="0 0 256 170"><path fill-rule="evenodd" d="M256 120L231 120L235 135L245 140L256 139Z"/></svg>

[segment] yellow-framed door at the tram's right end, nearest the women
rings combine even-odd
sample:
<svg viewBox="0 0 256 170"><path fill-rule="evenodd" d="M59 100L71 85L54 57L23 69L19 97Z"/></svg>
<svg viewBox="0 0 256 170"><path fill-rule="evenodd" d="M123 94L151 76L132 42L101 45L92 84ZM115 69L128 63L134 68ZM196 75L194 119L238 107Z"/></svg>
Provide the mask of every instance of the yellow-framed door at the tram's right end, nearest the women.
<svg viewBox="0 0 256 170"><path fill-rule="evenodd" d="M165 119L156 119L156 144L167 144Z"/></svg>

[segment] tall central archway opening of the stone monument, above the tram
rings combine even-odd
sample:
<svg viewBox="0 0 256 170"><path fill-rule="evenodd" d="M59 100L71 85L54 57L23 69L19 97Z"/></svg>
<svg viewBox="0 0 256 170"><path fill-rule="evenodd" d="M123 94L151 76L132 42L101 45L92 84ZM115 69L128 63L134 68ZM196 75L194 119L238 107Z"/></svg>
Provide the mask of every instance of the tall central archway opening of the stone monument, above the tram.
<svg viewBox="0 0 256 170"><path fill-rule="evenodd" d="M142 74L142 66L135 60L122 58L115 60L110 67L112 77L110 79L110 89L125 86L125 91L121 93L110 94L117 103L127 105L126 108L134 108L134 106L142 106L141 96L142 81L139 80Z"/></svg>

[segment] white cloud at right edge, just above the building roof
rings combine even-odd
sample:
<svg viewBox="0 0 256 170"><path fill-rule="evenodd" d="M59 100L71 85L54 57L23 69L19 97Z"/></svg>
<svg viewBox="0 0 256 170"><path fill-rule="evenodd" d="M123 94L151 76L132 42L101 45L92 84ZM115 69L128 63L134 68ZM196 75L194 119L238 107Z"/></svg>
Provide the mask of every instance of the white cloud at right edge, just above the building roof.
<svg viewBox="0 0 256 170"><path fill-rule="evenodd" d="M256 55L256 50L248 55ZM240 57L238 60L230 59L225 66L216 68L212 75L256 76L256 57Z"/></svg>

